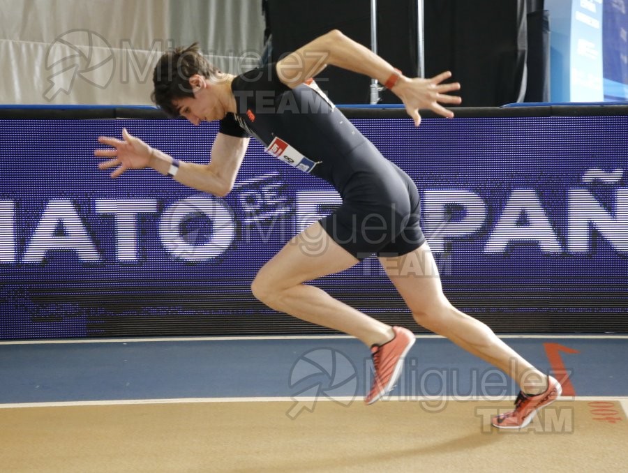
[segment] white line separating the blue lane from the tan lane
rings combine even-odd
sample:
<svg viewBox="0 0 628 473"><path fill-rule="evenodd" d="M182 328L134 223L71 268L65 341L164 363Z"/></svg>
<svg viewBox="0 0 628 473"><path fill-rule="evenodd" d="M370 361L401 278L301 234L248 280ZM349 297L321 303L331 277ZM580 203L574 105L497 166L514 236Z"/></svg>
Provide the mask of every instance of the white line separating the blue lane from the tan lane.
<svg viewBox="0 0 628 473"><path fill-rule="evenodd" d="M328 402L350 403L351 401L361 402L361 396L304 396L304 397L267 397L267 398L173 398L173 399L116 399L116 400L80 400L62 401L52 403L8 403L0 404L0 409L18 409L24 407L76 407L76 406L100 406L100 405L140 405L140 404L194 404L194 403L289 403L289 402ZM511 397L504 396L389 396L382 399L387 402L467 402L467 401L503 401L511 400ZM560 399L562 400L562 399ZM618 401L622 404L628 416L628 396L576 396L567 398L565 401Z"/></svg>

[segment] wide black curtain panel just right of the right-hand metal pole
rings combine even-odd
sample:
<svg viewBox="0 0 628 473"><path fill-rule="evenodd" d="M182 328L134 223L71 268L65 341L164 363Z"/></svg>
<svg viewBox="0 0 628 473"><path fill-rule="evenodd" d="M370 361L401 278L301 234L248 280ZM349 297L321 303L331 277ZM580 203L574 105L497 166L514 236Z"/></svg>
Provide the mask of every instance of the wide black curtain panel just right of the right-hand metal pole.
<svg viewBox="0 0 628 473"><path fill-rule="evenodd" d="M464 107L523 100L525 0L424 0L426 76L451 70Z"/></svg>

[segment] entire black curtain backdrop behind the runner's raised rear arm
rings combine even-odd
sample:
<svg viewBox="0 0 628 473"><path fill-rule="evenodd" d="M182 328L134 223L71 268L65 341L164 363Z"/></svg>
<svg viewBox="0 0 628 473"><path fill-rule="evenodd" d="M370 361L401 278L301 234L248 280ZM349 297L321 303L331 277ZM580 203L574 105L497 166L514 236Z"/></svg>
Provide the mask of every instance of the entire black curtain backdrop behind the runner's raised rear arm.
<svg viewBox="0 0 628 473"><path fill-rule="evenodd" d="M334 28L371 47L370 0L266 1L274 61ZM378 52L414 76L417 1L391 4L377 2ZM543 0L424 0L426 77L451 70L463 87L463 107L547 100L548 19L543 8ZM338 104L368 103L368 77L328 68L317 82ZM398 102L390 91L382 93L382 103Z"/></svg>

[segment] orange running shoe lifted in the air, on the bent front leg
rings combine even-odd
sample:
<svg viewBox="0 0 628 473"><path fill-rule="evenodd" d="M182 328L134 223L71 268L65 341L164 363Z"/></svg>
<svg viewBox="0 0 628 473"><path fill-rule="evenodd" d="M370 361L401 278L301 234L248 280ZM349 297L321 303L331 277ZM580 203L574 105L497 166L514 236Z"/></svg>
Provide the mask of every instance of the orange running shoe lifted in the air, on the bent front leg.
<svg viewBox="0 0 628 473"><path fill-rule="evenodd" d="M392 340L384 345L371 347L375 379L371 391L364 398L366 404L375 403L394 388L403 369L403 359L417 341L414 333L401 326L394 326L393 331L395 337Z"/></svg>

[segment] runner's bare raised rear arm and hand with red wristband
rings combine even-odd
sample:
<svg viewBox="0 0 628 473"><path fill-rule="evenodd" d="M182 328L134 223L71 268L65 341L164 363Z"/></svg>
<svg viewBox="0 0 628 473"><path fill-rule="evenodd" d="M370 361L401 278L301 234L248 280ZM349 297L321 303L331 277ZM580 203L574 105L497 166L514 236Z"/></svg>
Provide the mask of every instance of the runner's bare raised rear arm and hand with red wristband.
<svg viewBox="0 0 628 473"><path fill-rule="evenodd" d="M441 83L451 77L449 71L431 79L405 77L377 54L336 29L278 61L277 75L287 87L294 88L309 77L315 77L328 64L368 75L381 84L389 84L391 91L401 98L405 110L417 126L421 121L419 109L433 110L443 117L451 118L454 113L440 104L461 103L460 97L448 95L449 92L460 89L460 84Z"/></svg>

